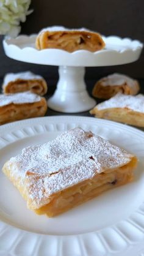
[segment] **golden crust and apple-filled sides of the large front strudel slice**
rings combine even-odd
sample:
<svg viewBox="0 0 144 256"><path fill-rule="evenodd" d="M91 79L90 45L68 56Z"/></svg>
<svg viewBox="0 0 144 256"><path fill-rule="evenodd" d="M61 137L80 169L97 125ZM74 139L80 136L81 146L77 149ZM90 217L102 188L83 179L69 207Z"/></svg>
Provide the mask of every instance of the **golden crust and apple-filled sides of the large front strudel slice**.
<svg viewBox="0 0 144 256"><path fill-rule="evenodd" d="M2 170L27 201L27 207L29 209L34 210L37 214L46 214L48 217L53 217L62 214L75 206L81 205L85 201L98 196L104 191L131 182L133 180L133 171L136 166L137 158L133 157L131 161L123 167L111 170L110 172L107 170L105 173L100 173L92 179L76 184L62 192L57 192L56 194L51 195L51 197L46 198L45 191L43 190L43 206L38 209L35 209L34 202L32 202L29 195L29 183L27 180L29 179L29 176L32 176L32 173L27 174L24 184L21 184L20 178L14 177L10 172L9 162L5 163ZM37 181L38 178L35 180L36 185Z"/></svg>

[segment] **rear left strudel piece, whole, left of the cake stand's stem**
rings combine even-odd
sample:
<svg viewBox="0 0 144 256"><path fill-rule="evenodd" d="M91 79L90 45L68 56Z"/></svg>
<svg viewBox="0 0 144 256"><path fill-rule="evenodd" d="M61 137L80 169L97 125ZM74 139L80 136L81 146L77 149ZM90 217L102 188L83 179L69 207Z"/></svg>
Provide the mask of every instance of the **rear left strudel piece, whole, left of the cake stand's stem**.
<svg viewBox="0 0 144 256"><path fill-rule="evenodd" d="M40 75L27 71L21 73L7 73L2 85L4 93L31 91L43 96L48 90L46 81Z"/></svg>

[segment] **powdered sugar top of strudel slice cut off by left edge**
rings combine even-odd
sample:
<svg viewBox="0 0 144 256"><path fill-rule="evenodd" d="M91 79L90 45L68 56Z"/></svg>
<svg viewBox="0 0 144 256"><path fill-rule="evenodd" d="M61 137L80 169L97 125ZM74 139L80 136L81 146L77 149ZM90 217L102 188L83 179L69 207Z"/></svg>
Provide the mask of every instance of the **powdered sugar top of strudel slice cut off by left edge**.
<svg viewBox="0 0 144 256"><path fill-rule="evenodd" d="M14 94L0 94L0 107L9 104L34 103L41 100L41 97L32 92L19 92Z"/></svg>

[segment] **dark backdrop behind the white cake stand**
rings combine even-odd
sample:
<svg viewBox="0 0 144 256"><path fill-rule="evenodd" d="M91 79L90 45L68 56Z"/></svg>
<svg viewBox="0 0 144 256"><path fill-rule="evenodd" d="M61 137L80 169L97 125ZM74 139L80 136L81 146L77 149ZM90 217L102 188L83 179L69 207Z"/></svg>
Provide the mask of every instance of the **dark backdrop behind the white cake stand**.
<svg viewBox="0 0 144 256"><path fill-rule="evenodd" d="M41 28L63 25L69 28L85 27L101 32L106 36L130 37L144 42L144 0L33 0L34 12L22 23L22 34L31 34ZM41 66L14 61L4 55L2 37L0 37L0 81L7 72L31 70L43 75L49 85L56 85L57 67ZM108 73L121 72L134 78L144 78L144 53L139 61L132 64L112 67L88 67L87 83L94 83ZM50 90L50 92L52 92Z"/></svg>

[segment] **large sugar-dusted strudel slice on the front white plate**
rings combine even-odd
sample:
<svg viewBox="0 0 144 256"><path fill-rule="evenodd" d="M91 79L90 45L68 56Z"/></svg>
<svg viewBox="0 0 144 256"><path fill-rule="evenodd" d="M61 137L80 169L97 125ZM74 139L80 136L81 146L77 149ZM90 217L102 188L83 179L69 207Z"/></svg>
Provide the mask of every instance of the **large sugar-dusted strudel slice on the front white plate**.
<svg viewBox="0 0 144 256"><path fill-rule="evenodd" d="M37 214L56 216L129 183L137 158L81 128L24 148L2 168Z"/></svg>

